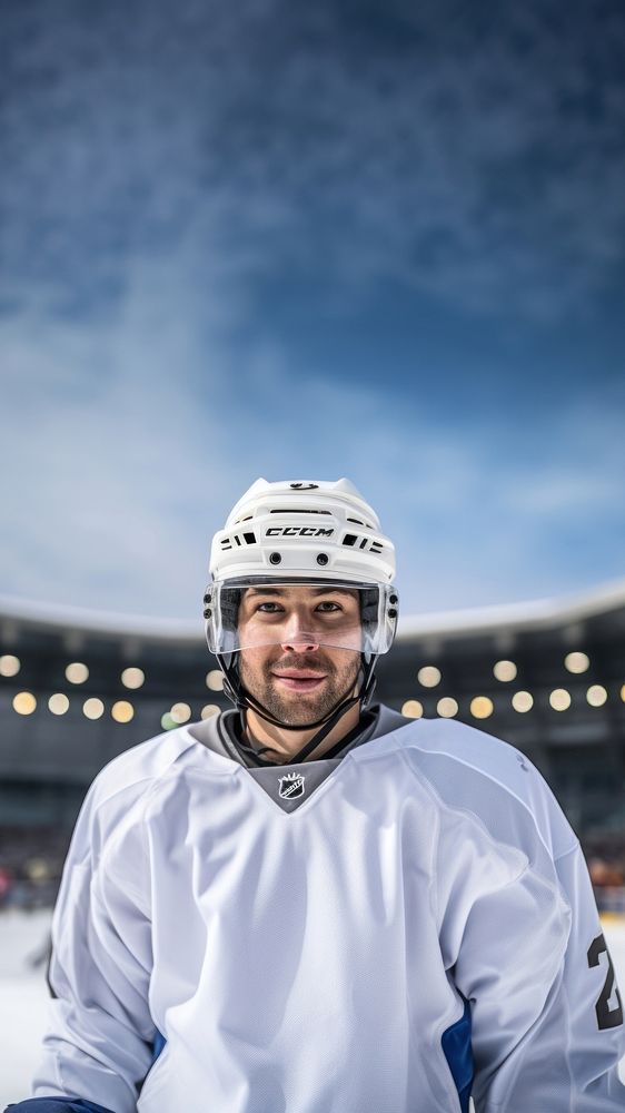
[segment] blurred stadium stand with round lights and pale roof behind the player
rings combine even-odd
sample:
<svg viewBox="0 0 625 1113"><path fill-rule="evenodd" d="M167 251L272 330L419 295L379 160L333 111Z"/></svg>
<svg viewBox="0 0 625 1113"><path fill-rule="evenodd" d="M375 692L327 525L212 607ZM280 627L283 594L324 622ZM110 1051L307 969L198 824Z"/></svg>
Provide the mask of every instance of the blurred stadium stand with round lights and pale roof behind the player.
<svg viewBox="0 0 625 1113"><path fill-rule="evenodd" d="M523 750L625 912L625 580L400 621L378 696ZM0 905L53 899L87 786L110 758L227 702L197 622L0 598Z"/></svg>

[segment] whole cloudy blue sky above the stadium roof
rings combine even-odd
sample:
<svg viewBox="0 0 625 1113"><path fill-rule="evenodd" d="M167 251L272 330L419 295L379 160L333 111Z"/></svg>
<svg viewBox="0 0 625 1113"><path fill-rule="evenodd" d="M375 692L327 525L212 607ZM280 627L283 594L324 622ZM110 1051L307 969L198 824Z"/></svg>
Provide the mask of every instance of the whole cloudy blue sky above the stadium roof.
<svg viewBox="0 0 625 1113"><path fill-rule="evenodd" d="M405 611L623 574L625 13L10 0L0 594L194 618L258 475Z"/></svg>

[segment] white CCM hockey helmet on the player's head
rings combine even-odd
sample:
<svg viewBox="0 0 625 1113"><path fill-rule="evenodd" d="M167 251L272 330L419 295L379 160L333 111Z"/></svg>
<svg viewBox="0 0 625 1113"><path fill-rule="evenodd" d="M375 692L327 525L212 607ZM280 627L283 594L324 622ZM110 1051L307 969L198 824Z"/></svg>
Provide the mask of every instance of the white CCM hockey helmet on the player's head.
<svg viewBox="0 0 625 1113"><path fill-rule="evenodd" d="M377 657L393 643L398 597L393 580L395 549L380 532L377 514L349 480L280 481L259 479L234 506L212 540L211 582L205 595L208 646L217 656L271 642L262 632L237 624L246 588L317 584L359 594L360 621L349 629L327 623L315 633L323 644L358 649ZM264 640L259 640L264 639Z"/></svg>

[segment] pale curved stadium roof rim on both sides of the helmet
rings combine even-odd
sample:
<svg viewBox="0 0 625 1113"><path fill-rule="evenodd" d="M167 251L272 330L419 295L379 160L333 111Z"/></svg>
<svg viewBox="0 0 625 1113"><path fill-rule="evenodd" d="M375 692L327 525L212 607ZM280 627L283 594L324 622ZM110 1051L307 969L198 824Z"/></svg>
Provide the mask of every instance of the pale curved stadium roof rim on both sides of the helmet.
<svg viewBox="0 0 625 1113"><path fill-rule="evenodd" d="M621 609L625 613L625 579L556 599L406 615L399 619L398 641L512 634L575 624ZM117 614L0 595L0 636L19 627L48 633L81 632L189 646L204 639L201 618L196 621Z"/></svg>

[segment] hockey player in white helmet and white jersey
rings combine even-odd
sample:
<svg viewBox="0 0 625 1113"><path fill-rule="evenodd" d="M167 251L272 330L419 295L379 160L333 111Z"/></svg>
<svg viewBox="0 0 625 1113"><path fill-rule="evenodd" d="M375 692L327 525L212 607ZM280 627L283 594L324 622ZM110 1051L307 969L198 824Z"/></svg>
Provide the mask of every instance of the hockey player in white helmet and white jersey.
<svg viewBox="0 0 625 1113"><path fill-rule="evenodd" d="M625 1107L621 997L545 782L371 706L394 574L345 480L235 506L205 618L236 709L96 778L16 1113Z"/></svg>

